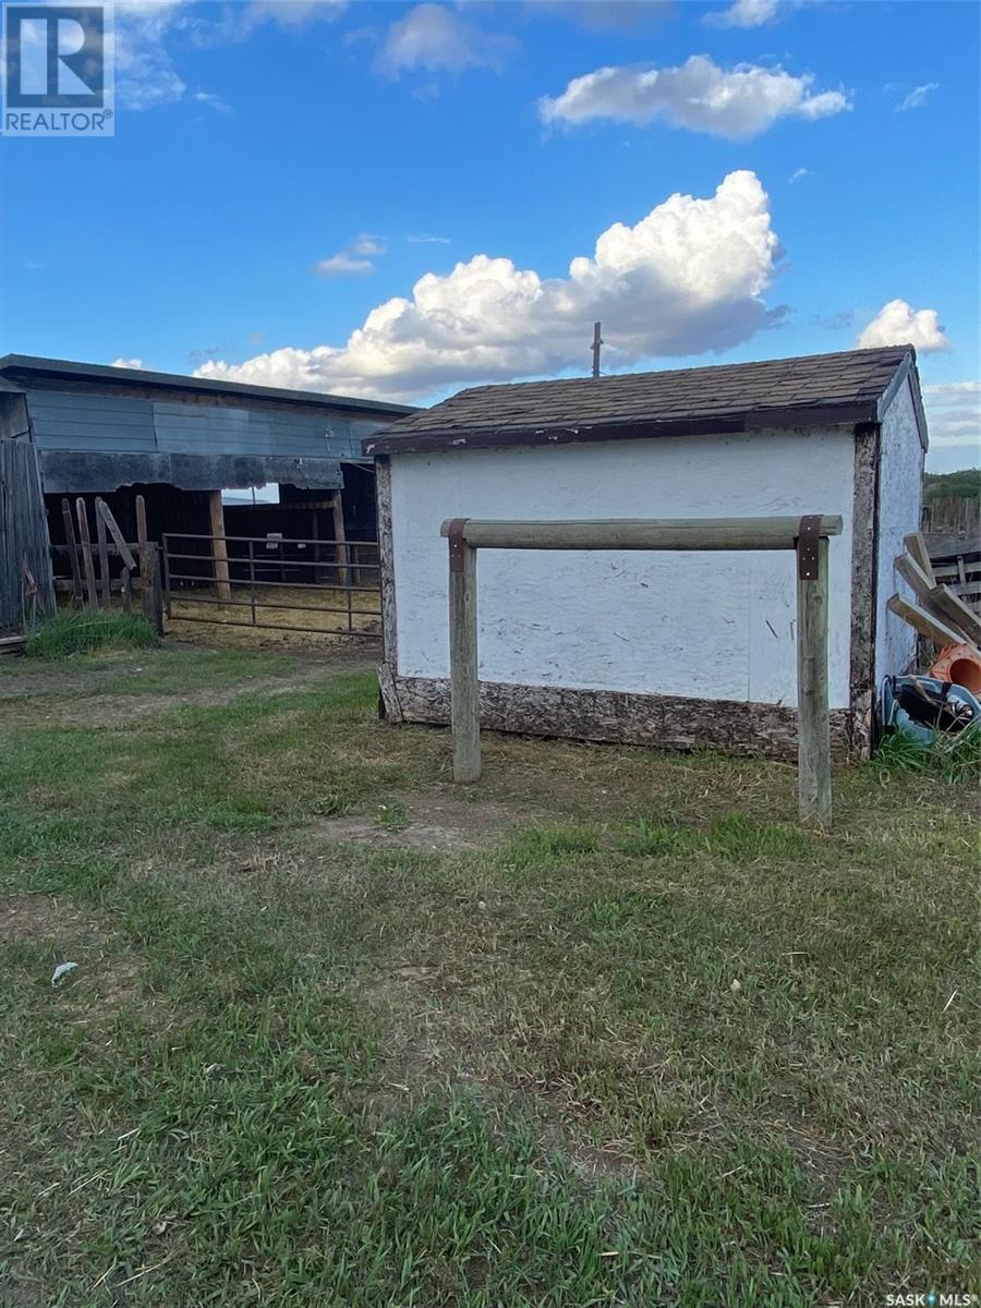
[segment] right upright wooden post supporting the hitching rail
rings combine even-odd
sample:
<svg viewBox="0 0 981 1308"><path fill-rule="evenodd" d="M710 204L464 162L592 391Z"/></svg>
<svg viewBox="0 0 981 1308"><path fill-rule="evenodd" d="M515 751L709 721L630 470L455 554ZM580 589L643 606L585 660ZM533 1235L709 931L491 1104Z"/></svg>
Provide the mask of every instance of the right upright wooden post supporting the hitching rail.
<svg viewBox="0 0 981 1308"><path fill-rule="evenodd" d="M806 522L797 548L798 798L802 821L831 827L828 542L808 540Z"/></svg>

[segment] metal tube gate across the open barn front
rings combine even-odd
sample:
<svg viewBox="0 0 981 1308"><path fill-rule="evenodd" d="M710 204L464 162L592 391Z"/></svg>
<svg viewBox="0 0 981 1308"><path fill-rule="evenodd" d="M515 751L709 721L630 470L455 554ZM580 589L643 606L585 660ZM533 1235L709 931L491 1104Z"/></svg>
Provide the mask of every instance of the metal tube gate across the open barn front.
<svg viewBox="0 0 981 1308"><path fill-rule="evenodd" d="M164 596L175 623L377 640L378 543L169 531Z"/></svg>

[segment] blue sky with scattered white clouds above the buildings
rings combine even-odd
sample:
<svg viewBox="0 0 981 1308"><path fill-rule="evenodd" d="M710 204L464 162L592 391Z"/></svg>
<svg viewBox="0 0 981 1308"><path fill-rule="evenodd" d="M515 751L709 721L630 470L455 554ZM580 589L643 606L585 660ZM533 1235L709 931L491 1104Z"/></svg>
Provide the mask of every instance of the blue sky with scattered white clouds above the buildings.
<svg viewBox="0 0 981 1308"><path fill-rule="evenodd" d="M594 317L608 369L913 339L978 463L978 13L116 5L115 136L0 143L0 351L425 402Z"/></svg>

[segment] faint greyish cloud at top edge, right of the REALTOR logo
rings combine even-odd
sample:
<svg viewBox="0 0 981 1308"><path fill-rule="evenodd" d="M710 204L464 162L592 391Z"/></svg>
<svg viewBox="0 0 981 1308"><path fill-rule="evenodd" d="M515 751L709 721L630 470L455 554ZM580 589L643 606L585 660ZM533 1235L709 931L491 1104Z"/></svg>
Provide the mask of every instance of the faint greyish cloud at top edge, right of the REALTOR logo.
<svg viewBox="0 0 981 1308"><path fill-rule="evenodd" d="M513 37L481 31L442 4L417 4L388 27L378 54L378 68L394 76L413 68L449 73L468 68L500 72L515 46Z"/></svg>

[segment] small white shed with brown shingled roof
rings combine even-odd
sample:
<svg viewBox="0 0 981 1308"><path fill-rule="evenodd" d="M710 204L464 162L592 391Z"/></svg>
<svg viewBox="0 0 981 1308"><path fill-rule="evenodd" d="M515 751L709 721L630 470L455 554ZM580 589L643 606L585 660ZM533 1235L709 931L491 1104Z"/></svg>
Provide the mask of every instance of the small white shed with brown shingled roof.
<svg viewBox="0 0 981 1308"><path fill-rule="evenodd" d="M914 634L886 608L916 531L927 433L912 347L481 386L370 437L382 692L449 719L449 518L841 514L831 542L837 743L871 744L876 685ZM484 726L787 755L793 556L481 552Z"/></svg>

